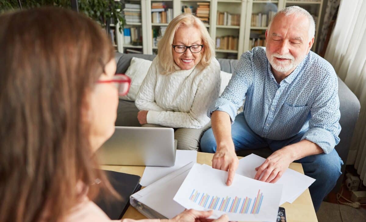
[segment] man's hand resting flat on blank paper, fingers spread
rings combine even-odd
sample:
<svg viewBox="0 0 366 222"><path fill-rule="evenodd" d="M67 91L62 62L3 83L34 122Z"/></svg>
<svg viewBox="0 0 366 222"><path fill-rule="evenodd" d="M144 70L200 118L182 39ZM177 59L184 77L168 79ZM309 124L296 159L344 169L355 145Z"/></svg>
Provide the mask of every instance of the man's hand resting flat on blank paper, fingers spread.
<svg viewBox="0 0 366 222"><path fill-rule="evenodd" d="M289 152L286 152L284 148L277 150L272 153L261 166L255 168L257 170L257 174L255 174L254 179L275 183L277 182L282 174L287 170L290 163L292 163L294 159L291 158Z"/></svg>

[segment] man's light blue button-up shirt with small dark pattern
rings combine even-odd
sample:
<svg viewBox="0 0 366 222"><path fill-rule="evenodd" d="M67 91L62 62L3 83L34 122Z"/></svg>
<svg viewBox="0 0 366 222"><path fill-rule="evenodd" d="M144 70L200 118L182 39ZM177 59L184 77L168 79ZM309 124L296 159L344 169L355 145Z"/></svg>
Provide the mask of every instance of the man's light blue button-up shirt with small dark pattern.
<svg viewBox="0 0 366 222"><path fill-rule="evenodd" d="M280 84L273 77L264 47L243 53L223 94L208 110L230 115L244 103L250 128L261 137L285 140L299 132L325 153L339 143L338 78L330 63L309 52Z"/></svg>

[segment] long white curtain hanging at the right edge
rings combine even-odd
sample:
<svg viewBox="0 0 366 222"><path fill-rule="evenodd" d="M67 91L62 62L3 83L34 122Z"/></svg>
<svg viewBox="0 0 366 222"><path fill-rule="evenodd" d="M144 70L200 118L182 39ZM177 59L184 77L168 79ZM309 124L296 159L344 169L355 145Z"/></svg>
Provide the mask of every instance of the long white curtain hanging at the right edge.
<svg viewBox="0 0 366 222"><path fill-rule="evenodd" d="M366 1L341 0L324 58L361 103L347 164L366 185ZM343 129L346 130L346 129Z"/></svg>

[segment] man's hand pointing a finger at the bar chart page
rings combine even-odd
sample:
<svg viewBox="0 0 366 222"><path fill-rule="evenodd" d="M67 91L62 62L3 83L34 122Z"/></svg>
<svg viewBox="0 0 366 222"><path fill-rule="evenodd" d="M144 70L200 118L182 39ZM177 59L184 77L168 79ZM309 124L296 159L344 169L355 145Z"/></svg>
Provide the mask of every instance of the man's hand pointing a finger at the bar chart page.
<svg viewBox="0 0 366 222"><path fill-rule="evenodd" d="M236 156L234 144L231 143L228 147L217 147L217 151L212 158L212 168L228 171L226 185L230 186L234 181L238 165L239 159Z"/></svg>

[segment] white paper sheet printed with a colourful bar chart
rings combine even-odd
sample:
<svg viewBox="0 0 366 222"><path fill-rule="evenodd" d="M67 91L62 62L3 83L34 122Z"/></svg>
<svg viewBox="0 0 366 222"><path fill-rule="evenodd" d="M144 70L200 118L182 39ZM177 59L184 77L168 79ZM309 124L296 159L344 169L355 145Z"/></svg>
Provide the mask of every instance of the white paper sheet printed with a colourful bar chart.
<svg viewBox="0 0 366 222"><path fill-rule="evenodd" d="M225 184L227 172L195 164L173 200L195 210L213 210L212 218L227 214L231 221L276 221L282 185L235 175Z"/></svg>

